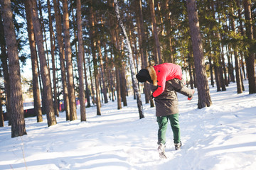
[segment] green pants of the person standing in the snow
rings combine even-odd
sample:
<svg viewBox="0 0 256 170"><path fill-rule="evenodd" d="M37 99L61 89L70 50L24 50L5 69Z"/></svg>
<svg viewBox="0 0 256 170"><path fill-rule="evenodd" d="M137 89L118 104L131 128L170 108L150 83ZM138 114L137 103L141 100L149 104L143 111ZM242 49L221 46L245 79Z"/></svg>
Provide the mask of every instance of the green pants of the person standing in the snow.
<svg viewBox="0 0 256 170"><path fill-rule="evenodd" d="M168 119L171 123L171 130L174 133L174 143L181 142L181 132L178 124L178 113L174 115L166 115L166 116L160 116L157 117L157 123L159 124L159 130L158 130L158 142L164 144L166 143L166 130L167 130L167 123Z"/></svg>

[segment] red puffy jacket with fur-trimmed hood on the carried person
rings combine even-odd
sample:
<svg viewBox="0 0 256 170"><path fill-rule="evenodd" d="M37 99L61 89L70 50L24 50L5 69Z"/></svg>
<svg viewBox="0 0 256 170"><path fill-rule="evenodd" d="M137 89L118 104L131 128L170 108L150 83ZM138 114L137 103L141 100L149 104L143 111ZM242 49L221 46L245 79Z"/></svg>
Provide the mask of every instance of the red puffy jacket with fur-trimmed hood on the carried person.
<svg viewBox="0 0 256 170"><path fill-rule="evenodd" d="M164 92L166 81L171 79L182 79L181 67L173 63L164 63L156 66L146 67L149 75L153 80L154 86L158 86L152 94L154 97L159 96Z"/></svg>

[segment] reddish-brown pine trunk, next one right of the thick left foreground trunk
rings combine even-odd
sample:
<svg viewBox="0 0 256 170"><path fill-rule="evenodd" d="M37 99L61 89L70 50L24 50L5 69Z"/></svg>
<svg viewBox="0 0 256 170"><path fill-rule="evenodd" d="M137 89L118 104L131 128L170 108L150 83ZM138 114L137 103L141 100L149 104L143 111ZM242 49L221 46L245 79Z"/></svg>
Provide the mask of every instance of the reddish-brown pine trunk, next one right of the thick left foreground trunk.
<svg viewBox="0 0 256 170"><path fill-rule="evenodd" d="M31 64L32 64L32 77L33 77L33 105L34 111L36 113L37 122L43 121L42 110L41 110L41 101L40 101L40 92L38 86L38 60L36 52L36 41L35 33L33 30L33 21L31 18L31 4L29 1L25 1L25 10L26 10L26 20L28 26L28 40L31 50Z"/></svg>

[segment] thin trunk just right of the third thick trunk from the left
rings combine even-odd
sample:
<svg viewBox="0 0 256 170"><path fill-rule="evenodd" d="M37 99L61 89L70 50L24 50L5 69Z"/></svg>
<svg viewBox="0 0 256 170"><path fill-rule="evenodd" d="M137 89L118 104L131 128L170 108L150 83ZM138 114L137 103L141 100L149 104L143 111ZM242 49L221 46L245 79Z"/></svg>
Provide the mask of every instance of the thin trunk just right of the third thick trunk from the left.
<svg viewBox="0 0 256 170"><path fill-rule="evenodd" d="M48 6L48 16L49 16L49 30L50 30L50 55L52 57L52 67L53 67L53 96L54 96L54 111L55 115L59 116L58 113L58 99L57 99L57 87L56 87L56 71L55 71L55 42L54 42L54 32L53 32L53 21L51 18L50 10L50 0L47 0ZM49 65L50 67L50 65Z"/></svg>

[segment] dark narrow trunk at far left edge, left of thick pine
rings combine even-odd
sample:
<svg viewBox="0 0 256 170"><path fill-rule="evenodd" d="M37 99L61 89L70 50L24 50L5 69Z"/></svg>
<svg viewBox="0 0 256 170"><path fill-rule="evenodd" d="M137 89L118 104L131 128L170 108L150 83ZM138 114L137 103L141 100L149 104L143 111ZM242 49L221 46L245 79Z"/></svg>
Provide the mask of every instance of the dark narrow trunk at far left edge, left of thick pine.
<svg viewBox="0 0 256 170"><path fill-rule="evenodd" d="M1 11L0 11L0 44L1 44L1 67L4 73L4 89L6 94L6 114L8 118L8 125L11 125L11 91L10 91L10 81L9 81L9 67L7 64L7 54L6 54L6 42L4 39L4 26L2 23Z"/></svg>

